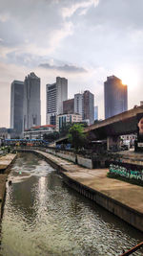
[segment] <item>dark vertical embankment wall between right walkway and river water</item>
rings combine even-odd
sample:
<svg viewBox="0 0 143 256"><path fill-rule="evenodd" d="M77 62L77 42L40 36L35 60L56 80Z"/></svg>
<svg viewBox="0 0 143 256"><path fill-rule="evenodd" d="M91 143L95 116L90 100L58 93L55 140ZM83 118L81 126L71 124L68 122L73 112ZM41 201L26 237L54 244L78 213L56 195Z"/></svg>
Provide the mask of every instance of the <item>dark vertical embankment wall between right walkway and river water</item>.
<svg viewBox="0 0 143 256"><path fill-rule="evenodd" d="M33 152L36 153L37 155L42 156L47 162L51 164L51 166L56 168L58 171L66 171L66 166L61 167L60 164L55 163L50 158L43 155L42 152ZM102 194L101 192L93 190L92 188L77 182L76 180L66 175L66 173L61 172L61 174L64 178L65 183L72 189L74 189L84 197L92 199L92 201L104 207L105 209L107 209L108 211L110 211L112 214L116 215L123 221L126 221L129 224L133 225L133 227L143 231L143 214L133 210L133 208L128 207L127 205L121 203L120 201L109 198L108 196Z"/></svg>

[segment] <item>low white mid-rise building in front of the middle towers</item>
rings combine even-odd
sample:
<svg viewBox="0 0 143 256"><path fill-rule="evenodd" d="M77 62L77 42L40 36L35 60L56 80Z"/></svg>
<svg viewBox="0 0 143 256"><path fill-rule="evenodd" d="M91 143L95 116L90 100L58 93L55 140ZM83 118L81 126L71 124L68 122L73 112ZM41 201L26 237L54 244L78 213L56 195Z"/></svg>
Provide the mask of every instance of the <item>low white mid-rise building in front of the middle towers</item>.
<svg viewBox="0 0 143 256"><path fill-rule="evenodd" d="M56 116L56 131L60 131L68 123L82 122L82 116L79 114L61 114Z"/></svg>

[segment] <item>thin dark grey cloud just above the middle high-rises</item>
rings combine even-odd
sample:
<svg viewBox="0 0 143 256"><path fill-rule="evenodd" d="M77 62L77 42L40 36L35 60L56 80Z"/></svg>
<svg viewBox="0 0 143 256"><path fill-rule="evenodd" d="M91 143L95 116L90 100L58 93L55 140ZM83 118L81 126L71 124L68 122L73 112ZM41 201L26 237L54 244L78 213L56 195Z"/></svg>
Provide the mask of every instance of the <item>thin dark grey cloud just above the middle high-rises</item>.
<svg viewBox="0 0 143 256"><path fill-rule="evenodd" d="M56 65L51 65L49 63L43 63L43 64L40 64L39 67L46 68L46 69L52 69L52 70L58 70L58 71L64 71L64 72L69 72L69 73L87 72L87 70L84 69L83 67L77 67L77 66L69 65L69 64L65 64L62 66L56 66Z"/></svg>

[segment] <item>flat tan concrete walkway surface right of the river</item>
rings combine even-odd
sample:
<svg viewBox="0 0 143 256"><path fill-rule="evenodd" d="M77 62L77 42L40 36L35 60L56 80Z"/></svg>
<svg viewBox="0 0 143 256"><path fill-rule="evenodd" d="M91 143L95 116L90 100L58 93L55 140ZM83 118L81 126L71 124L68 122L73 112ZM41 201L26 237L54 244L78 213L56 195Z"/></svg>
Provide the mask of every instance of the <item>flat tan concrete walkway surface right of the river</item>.
<svg viewBox="0 0 143 256"><path fill-rule="evenodd" d="M60 166L64 174L143 214L143 187L107 177L108 169L87 169L48 152L37 151Z"/></svg>

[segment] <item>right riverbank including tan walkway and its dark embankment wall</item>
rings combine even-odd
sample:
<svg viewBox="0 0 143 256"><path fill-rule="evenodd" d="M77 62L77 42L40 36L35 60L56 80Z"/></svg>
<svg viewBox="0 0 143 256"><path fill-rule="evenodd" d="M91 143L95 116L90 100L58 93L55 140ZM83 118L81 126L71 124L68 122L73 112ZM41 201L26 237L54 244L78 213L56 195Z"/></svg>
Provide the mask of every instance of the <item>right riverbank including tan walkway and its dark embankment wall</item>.
<svg viewBox="0 0 143 256"><path fill-rule="evenodd" d="M108 169L87 169L44 151L33 151L61 171L64 181L83 196L143 231L143 188L107 177Z"/></svg>

